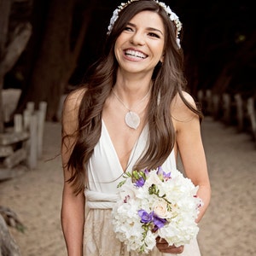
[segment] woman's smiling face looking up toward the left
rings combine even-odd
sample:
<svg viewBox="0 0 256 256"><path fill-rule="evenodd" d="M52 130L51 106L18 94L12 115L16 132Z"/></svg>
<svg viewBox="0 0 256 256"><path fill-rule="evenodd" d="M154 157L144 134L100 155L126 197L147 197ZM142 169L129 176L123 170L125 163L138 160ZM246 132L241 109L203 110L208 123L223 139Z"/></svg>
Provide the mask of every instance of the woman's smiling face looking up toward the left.
<svg viewBox="0 0 256 256"><path fill-rule="evenodd" d="M126 73L150 73L163 61L165 29L160 15L143 11L120 33L114 46L119 69Z"/></svg>

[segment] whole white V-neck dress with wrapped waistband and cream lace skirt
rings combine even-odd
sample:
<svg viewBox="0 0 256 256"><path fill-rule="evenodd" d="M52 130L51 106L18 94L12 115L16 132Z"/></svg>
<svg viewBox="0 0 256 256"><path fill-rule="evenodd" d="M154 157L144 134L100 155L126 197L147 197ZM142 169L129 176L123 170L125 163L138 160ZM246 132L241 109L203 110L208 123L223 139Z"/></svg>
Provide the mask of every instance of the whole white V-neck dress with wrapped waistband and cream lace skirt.
<svg viewBox="0 0 256 256"><path fill-rule="evenodd" d="M132 171L132 166L143 154L147 147L148 126L146 125L131 150L126 172ZM164 170L176 170L174 151L162 165ZM113 147L108 130L102 120L102 135L94 148L94 152L87 166L88 183L84 189L85 195L85 223L84 223L84 256L172 256L176 254L160 253L155 247L149 254L127 252L113 232L111 211L117 201L117 185L123 180L123 168L118 154ZM172 175L174 173L172 172ZM200 256L196 240L185 245L181 256Z"/></svg>

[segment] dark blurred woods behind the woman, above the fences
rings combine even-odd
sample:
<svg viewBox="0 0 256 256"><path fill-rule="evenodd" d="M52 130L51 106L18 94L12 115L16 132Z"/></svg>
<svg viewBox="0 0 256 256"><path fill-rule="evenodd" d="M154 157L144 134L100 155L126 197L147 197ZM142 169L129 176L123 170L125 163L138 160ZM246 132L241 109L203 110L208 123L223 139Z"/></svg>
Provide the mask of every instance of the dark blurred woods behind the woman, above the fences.
<svg viewBox="0 0 256 256"><path fill-rule="evenodd" d="M256 19L249 1L166 0L183 23L189 90L255 96ZM15 113L47 102L57 120L61 95L101 54L112 0L0 0L0 90L20 89ZM3 118L2 118L3 119Z"/></svg>

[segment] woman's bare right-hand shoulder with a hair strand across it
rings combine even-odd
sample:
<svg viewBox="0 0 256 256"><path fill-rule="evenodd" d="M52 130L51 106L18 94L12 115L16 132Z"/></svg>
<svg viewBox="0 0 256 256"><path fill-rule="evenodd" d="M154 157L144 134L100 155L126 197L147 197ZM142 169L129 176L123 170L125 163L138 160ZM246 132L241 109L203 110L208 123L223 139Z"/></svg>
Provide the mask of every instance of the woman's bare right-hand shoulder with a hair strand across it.
<svg viewBox="0 0 256 256"><path fill-rule="evenodd" d="M193 96L191 96L188 92L183 91L183 97L192 108L196 109ZM180 122L189 122L189 120L194 119L195 116L197 116L191 109L189 109L185 102L183 102L182 97L178 94L172 101L171 113L172 119Z"/></svg>

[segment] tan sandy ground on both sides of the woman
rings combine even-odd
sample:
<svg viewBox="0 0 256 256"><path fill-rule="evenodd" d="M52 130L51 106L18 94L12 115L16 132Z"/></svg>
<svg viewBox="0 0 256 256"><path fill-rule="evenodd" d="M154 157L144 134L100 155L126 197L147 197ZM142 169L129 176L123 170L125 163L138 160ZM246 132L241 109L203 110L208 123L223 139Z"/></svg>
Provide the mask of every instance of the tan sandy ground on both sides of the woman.
<svg viewBox="0 0 256 256"><path fill-rule="evenodd" d="M251 135L237 133L207 117L202 137L212 183L212 200L200 223L201 256L256 255L256 147ZM0 205L25 224L10 228L22 256L67 255L61 232L61 124L47 122L38 167L0 183ZM193 255L191 255L193 256Z"/></svg>

